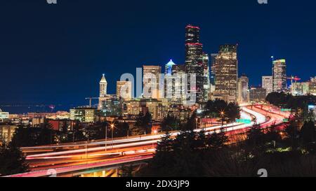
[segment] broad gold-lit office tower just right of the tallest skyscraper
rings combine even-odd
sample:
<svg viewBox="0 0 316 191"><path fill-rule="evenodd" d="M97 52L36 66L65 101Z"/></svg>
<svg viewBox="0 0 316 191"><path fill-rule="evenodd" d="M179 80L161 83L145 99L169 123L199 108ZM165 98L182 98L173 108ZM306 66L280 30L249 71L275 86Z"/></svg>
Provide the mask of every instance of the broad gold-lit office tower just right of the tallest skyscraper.
<svg viewBox="0 0 316 191"><path fill-rule="evenodd" d="M220 45L212 66L215 78L214 95L225 101L237 101L238 45Z"/></svg>

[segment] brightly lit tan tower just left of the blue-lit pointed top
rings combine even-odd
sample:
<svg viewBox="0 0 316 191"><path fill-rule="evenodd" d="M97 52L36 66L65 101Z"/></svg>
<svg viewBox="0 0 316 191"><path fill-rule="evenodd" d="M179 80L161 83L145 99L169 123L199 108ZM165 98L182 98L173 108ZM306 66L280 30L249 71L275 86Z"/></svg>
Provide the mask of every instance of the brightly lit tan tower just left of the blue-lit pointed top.
<svg viewBox="0 0 316 191"><path fill-rule="evenodd" d="M143 66L143 85L148 88L147 92L143 92L146 98L160 98L159 74L161 73L162 66ZM155 81L152 78L155 78Z"/></svg>

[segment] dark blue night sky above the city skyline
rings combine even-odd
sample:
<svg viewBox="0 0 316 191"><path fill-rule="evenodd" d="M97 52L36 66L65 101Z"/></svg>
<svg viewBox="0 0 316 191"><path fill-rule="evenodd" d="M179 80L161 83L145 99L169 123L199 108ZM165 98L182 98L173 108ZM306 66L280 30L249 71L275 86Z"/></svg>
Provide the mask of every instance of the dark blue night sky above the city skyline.
<svg viewBox="0 0 316 191"><path fill-rule="evenodd" d="M316 2L312 0L1 1L0 104L87 104L105 73L115 93L121 73L143 64L183 64L185 26L201 27L204 52L239 44L239 73L251 84L271 73L315 76Z"/></svg>

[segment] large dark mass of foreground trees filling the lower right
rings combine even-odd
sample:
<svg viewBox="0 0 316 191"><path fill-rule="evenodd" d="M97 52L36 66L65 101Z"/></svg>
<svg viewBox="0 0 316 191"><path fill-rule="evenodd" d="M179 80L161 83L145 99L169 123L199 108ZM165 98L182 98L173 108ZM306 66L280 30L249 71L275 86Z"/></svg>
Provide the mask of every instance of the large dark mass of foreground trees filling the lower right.
<svg viewBox="0 0 316 191"><path fill-rule="evenodd" d="M258 176L258 169L268 176L316 176L315 135L314 122L298 129L295 118L285 130L254 125L234 145L223 131L183 131L175 139L166 133L153 160L135 176Z"/></svg>

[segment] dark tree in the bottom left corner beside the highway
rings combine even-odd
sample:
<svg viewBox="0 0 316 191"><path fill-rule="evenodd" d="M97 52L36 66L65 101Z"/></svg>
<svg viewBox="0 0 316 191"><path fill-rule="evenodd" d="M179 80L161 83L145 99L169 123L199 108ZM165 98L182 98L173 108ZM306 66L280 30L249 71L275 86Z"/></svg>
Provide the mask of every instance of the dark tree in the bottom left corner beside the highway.
<svg viewBox="0 0 316 191"><path fill-rule="evenodd" d="M7 146L4 142L0 148L0 176L19 174L28 171L22 152L15 146Z"/></svg>

